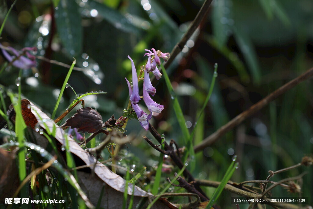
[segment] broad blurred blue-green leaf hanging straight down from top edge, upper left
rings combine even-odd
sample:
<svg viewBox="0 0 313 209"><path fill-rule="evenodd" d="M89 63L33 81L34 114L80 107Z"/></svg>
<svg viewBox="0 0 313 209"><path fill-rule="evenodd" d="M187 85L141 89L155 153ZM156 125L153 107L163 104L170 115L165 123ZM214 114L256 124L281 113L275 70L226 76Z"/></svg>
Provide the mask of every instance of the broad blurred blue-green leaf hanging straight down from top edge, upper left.
<svg viewBox="0 0 313 209"><path fill-rule="evenodd" d="M79 6L73 0L60 0L55 10L58 34L69 57L80 55L82 50L82 26Z"/></svg>

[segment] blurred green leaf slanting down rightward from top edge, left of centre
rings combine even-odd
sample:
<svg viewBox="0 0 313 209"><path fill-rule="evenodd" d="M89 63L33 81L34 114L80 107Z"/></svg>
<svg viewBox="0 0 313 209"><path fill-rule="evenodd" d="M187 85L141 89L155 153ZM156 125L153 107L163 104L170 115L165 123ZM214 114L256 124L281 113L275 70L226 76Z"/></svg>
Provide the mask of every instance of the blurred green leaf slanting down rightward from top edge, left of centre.
<svg viewBox="0 0 313 209"><path fill-rule="evenodd" d="M115 28L128 33L140 32L140 30L135 25L131 24L126 19L126 17L120 13L120 11L110 8L105 4L93 0L89 0L87 3L90 9L96 9L99 15L101 15L106 21L112 24Z"/></svg>

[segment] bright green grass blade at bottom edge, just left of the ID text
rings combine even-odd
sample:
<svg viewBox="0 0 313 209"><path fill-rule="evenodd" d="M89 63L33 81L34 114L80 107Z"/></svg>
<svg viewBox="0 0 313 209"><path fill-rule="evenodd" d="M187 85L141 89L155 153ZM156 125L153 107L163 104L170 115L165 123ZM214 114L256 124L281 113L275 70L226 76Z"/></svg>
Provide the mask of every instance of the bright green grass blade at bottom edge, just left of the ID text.
<svg viewBox="0 0 313 209"><path fill-rule="evenodd" d="M234 171L236 170L237 166L238 166L238 162L236 161L237 156L233 157L233 161L232 163L229 165L221 183L218 185L218 187L216 188L216 190L214 191L211 200L209 201L208 205L206 208L211 208L213 206L213 204L217 201L218 197L220 196L220 194L222 193L225 185L227 184L228 180L232 177Z"/></svg>

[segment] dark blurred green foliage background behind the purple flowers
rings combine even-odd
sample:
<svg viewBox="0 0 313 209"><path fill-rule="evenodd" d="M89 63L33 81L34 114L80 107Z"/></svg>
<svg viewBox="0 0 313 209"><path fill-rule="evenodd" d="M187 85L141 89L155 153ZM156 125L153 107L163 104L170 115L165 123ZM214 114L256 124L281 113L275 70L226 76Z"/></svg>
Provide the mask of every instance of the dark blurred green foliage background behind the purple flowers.
<svg viewBox="0 0 313 209"><path fill-rule="evenodd" d="M11 0L0 1L1 22ZM202 0L32 0L17 1L4 27L3 45L16 49L38 48L37 55L71 64L83 71L73 71L69 84L79 93L103 90L106 95L86 97L86 106L97 109L106 120L112 114L119 118L128 102L124 77L131 76L131 63L137 69L144 65L144 49L171 52L195 18ZM182 53L167 69L179 97L187 128L192 127L197 112L208 93L214 63L218 77L205 114L201 117L194 144L200 143L230 119L243 112L270 92L313 66L313 1L310 0L215 0L200 27L188 40ZM4 62L0 56L0 64ZM37 68L23 71L22 94L46 113L52 113L67 68L37 60ZM0 76L5 90L17 92L18 69L8 67ZM153 118L159 133L167 140L182 144L172 100L164 79L153 81L154 100L165 106ZM65 89L58 113L72 99ZM7 105L9 98L5 98ZM74 112L73 112L74 114ZM196 178L220 181L238 155L239 169L232 181L265 180L268 170L278 170L301 161L313 148L312 80L287 91L261 111L245 120L215 144L196 156ZM137 121L127 125L127 134L141 138L146 135ZM148 134L149 136L149 134ZM151 137L152 138L152 137ZM125 150L124 150L125 151ZM159 154L142 141L126 150L130 164L142 165L153 172ZM127 165L126 165L127 166ZM130 166L130 165L128 165ZM312 204L312 168L300 167L275 175L271 180L299 175L300 196L310 197ZM172 175L164 174L166 177ZM143 180L145 189L149 178ZM303 185L302 185L303 184ZM208 196L214 188L203 188ZM177 191L172 187L171 191ZM275 188L274 196L299 196ZM230 205L228 192L223 192L218 204ZM240 208L246 208L241 206Z"/></svg>

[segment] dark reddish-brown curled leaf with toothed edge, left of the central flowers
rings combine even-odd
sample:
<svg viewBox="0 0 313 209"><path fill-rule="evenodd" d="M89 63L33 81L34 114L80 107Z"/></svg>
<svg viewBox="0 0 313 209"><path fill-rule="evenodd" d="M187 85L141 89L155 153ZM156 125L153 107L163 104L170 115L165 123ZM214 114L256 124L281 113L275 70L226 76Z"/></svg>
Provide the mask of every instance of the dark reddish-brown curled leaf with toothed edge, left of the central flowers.
<svg viewBox="0 0 313 209"><path fill-rule="evenodd" d="M90 107L80 108L69 118L63 126L78 128L79 132L95 133L103 128L102 117L99 112Z"/></svg>

